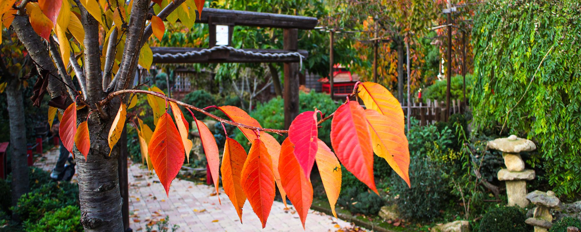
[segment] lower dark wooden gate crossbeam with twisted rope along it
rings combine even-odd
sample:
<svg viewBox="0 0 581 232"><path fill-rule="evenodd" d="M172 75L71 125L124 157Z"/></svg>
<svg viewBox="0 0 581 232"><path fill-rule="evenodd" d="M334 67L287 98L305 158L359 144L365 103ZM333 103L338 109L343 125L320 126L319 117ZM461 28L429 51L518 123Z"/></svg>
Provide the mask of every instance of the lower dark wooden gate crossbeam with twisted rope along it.
<svg viewBox="0 0 581 232"><path fill-rule="evenodd" d="M151 47L153 54L177 54L185 53L190 51L199 51L204 48L171 48L171 47ZM243 49L250 52L259 53L288 53L288 52L299 52L306 58L309 56L307 50L284 50L284 49ZM163 58L159 59L153 56L153 63L299 63L300 59L297 56L290 57L263 57L263 56L252 56L245 55L243 53L228 53L226 51L216 51L205 56L192 56L187 58Z"/></svg>

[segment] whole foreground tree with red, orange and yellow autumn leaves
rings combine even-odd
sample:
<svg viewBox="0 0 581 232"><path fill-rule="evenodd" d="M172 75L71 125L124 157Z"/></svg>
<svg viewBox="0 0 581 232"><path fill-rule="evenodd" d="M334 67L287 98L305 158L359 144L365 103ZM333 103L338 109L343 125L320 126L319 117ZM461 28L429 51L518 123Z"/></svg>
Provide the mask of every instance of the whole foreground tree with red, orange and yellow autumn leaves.
<svg viewBox="0 0 581 232"><path fill-rule="evenodd" d="M13 27L39 73L45 74L35 84L35 99L42 99L48 92L49 104L64 110L59 134L64 147L77 157L81 224L85 231L123 230L117 142L136 96L148 99L155 122L153 131L139 118L139 125L134 124L142 158L148 168L155 170L166 193L191 151L189 127L196 126L210 172L216 176L216 191L220 191L217 176L221 171L224 192L238 215L242 215L248 200L263 227L274 201L275 186L295 205L304 226L313 201L309 176L315 162L332 206L340 192L339 161L376 193L374 153L385 158L410 183L403 111L392 94L379 84L357 84L335 112L307 111L296 117L289 130L262 128L256 119L236 107L213 106L227 115L220 118L200 106L171 99L155 87L133 89L137 64L149 68L152 63L153 55L146 44L149 37L152 34L161 37L166 17L193 23L203 3L203 0L0 3L3 27ZM156 15L149 17L151 9ZM366 109L350 100L355 95L363 100ZM237 126L252 143L249 153L239 142L227 137L220 165L218 144L207 126L195 117L189 125L180 106L189 113L198 111L223 124ZM317 133L318 125L331 118L333 150L318 139ZM289 136L281 146L269 133Z"/></svg>

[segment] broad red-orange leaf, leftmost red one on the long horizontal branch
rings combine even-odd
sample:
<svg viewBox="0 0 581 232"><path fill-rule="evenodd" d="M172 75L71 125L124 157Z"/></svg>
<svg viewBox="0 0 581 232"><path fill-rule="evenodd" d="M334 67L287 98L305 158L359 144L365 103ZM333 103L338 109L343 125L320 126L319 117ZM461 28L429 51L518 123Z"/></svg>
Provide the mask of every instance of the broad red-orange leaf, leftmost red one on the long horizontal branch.
<svg viewBox="0 0 581 232"><path fill-rule="evenodd" d="M159 182L163 184L169 196L171 181L180 172L185 158L180 132L175 128L170 114L165 113L157 120L155 131L149 141L148 153Z"/></svg>

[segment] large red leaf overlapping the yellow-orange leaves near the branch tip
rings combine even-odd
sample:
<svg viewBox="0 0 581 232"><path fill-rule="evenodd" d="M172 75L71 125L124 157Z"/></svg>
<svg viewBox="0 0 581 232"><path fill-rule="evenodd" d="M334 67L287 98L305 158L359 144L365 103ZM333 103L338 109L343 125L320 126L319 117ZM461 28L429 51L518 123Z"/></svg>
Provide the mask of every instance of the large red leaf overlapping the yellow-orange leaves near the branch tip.
<svg viewBox="0 0 581 232"><path fill-rule="evenodd" d="M373 177L373 150L365 111L356 101L343 104L331 122L331 144L347 171L377 193Z"/></svg>

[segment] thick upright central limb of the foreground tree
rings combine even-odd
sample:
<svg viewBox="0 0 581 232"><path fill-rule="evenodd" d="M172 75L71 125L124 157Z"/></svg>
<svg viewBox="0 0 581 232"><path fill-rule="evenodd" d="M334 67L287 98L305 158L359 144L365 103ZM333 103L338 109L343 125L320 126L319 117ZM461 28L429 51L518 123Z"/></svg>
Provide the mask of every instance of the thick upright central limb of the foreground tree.
<svg viewBox="0 0 581 232"><path fill-rule="evenodd" d="M101 78L101 49L99 49L99 22L87 12L83 4L78 5L81 22L85 28L85 78L87 81L87 102L94 104L103 98L105 93Z"/></svg>

